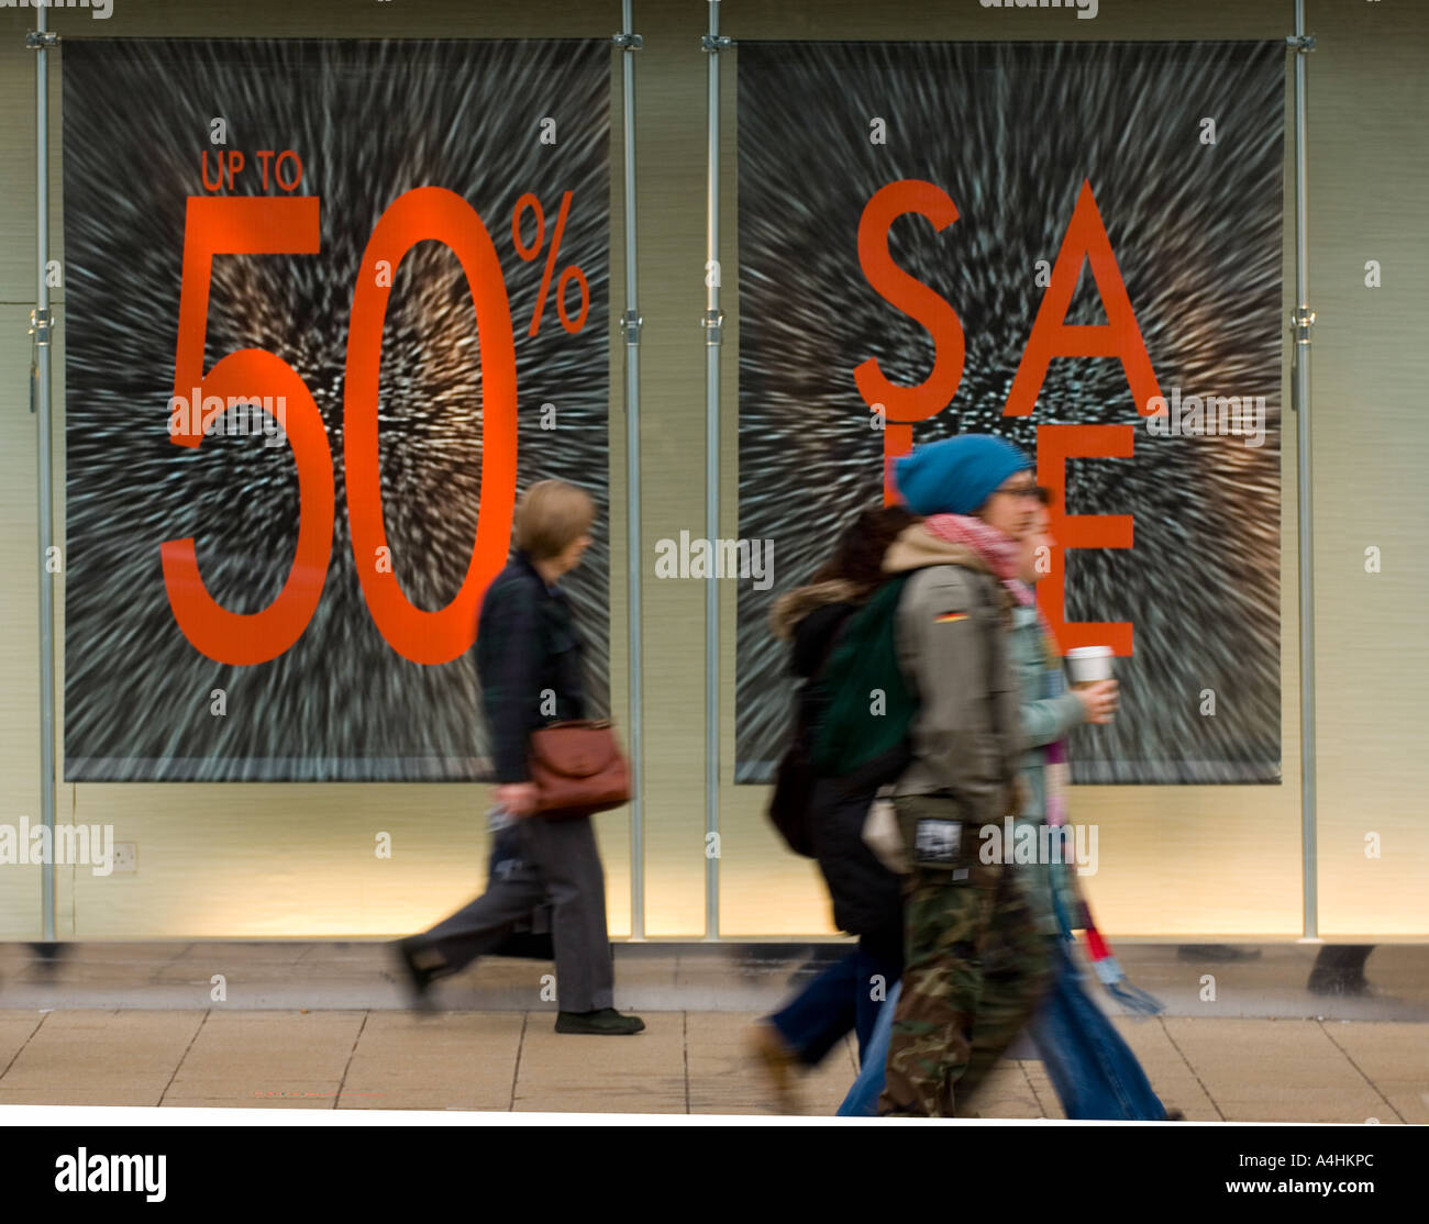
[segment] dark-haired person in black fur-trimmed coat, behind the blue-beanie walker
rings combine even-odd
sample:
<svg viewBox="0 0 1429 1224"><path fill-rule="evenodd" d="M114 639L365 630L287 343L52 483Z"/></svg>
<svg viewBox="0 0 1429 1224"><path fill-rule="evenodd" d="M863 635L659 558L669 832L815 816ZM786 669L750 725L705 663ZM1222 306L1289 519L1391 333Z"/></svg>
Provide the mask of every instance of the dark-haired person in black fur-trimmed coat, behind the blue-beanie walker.
<svg viewBox="0 0 1429 1224"><path fill-rule="evenodd" d="M885 581L883 556L913 523L903 507L860 511L839 537L833 557L810 581L775 603L770 627L790 643L789 670L802 684L789 751L779 767L770 818L796 853L817 860L833 901L833 921L857 947L755 1027L752 1044L785 1111L795 1107L799 1068L817 1065L850 1030L862 1057L877 1010L903 965L899 878L863 844L863 820L879 786L902 760L835 778L809 758L827 698L822 673L850 618Z"/></svg>

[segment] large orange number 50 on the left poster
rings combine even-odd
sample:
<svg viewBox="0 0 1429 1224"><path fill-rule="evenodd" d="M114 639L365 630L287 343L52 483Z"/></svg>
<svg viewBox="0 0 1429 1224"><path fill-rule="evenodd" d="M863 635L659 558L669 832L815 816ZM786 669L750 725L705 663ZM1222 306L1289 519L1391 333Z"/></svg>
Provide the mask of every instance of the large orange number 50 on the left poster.
<svg viewBox="0 0 1429 1224"><path fill-rule="evenodd" d="M317 254L320 207L317 196L189 197L174 394L187 396L199 387L204 398L283 396L284 427L297 466L297 548L283 590L262 611L233 613L209 594L191 536L160 546L174 620L194 650L219 663L267 663L303 636L327 580L336 488L327 430L312 393L292 366L263 348L240 348L203 373L213 257ZM396 269L424 240L446 244L460 260L472 289L482 351L482 504L476 541L462 588L452 603L433 613L414 607L403 594L394 567L379 571L376 566L377 550L387 547L377 456L377 374L392 290L379 284L374 269L380 260ZM384 280L390 286L390 277ZM183 414L183 428L170 437L179 446L200 446L209 416L204 413L200 421L196 404ZM510 547L516 503L516 348L506 281L490 234L476 210L443 187L414 187L399 196L367 240L347 327L343 458L353 557L377 630L413 663L449 663L476 640L482 594L506 564Z"/></svg>

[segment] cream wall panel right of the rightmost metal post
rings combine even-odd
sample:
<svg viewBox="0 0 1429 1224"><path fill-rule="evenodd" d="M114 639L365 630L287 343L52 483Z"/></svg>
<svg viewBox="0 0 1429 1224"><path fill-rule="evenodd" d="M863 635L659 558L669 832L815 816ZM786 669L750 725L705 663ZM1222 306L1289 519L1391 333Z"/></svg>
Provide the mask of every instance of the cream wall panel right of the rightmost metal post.
<svg viewBox="0 0 1429 1224"><path fill-rule="evenodd" d="M1429 933L1429 10L1312 4L1320 928ZM1366 289L1379 260L1382 287ZM1382 554L1378 574L1365 550ZM1380 857L1366 857L1378 834Z"/></svg>

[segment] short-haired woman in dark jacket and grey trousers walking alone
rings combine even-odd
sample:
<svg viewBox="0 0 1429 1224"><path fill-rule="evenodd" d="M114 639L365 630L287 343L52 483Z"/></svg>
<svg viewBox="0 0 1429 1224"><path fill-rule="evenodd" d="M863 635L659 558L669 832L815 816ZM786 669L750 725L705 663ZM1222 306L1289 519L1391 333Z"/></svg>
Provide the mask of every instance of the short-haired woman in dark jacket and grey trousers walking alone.
<svg viewBox="0 0 1429 1224"><path fill-rule="evenodd" d="M606 934L606 886L590 817L536 814L527 771L532 731L584 716L580 640L559 580L590 546L590 497L543 480L516 506L516 554L482 601L476 667L496 771L492 828L503 870L486 893L432 930L397 943L423 1004L427 988L494 951L543 901L552 906L557 1033L630 1034L644 1028L612 1005L614 973Z"/></svg>

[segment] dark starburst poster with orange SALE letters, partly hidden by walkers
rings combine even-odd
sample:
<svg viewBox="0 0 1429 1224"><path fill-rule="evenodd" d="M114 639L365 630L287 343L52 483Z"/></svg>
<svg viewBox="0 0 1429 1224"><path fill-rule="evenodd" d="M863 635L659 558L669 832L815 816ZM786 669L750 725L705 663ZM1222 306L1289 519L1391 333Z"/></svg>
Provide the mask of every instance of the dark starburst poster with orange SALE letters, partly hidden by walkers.
<svg viewBox="0 0 1429 1224"><path fill-rule="evenodd" d="M1280 780L1283 91L1280 43L740 43L736 780L773 600L962 433L1035 457L1037 601L1116 656L1073 778Z"/></svg>

